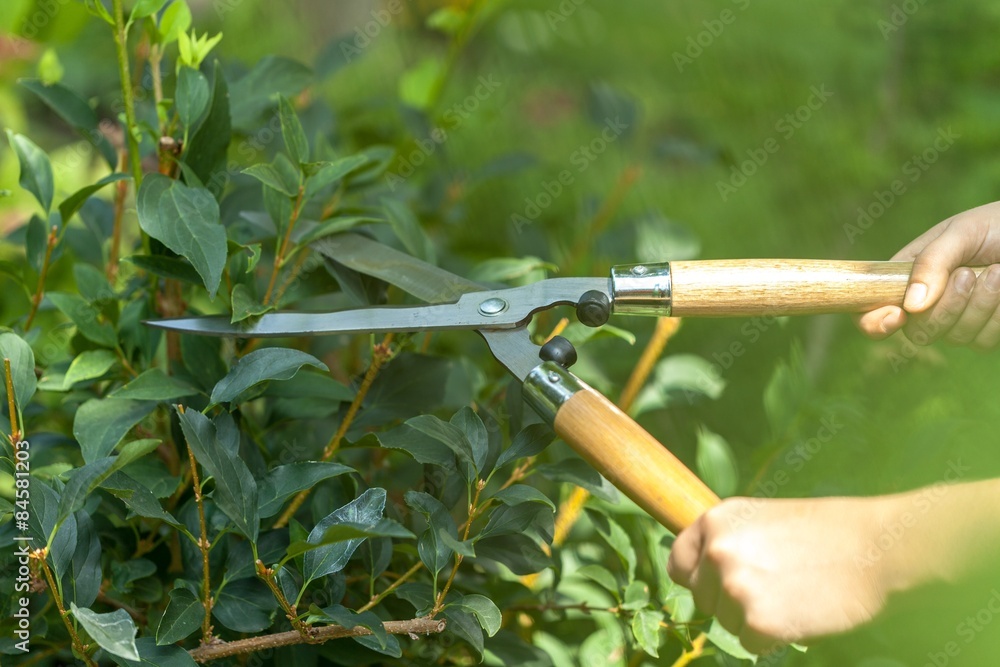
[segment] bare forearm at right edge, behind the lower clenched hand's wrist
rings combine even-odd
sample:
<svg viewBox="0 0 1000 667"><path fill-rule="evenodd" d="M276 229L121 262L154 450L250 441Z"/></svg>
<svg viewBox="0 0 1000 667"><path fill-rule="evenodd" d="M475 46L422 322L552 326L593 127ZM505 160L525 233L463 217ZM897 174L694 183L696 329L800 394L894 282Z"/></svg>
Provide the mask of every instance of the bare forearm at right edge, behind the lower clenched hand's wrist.
<svg viewBox="0 0 1000 667"><path fill-rule="evenodd" d="M881 531L862 561L885 560L890 591L953 583L997 567L1000 479L936 484L884 500Z"/></svg>

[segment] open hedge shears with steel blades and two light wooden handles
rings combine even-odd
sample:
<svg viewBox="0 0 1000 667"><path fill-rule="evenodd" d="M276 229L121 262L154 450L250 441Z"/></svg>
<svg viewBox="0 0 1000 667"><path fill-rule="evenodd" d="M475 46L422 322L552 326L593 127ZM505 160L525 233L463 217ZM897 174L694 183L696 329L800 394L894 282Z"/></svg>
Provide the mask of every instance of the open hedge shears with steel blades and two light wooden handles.
<svg viewBox="0 0 1000 667"><path fill-rule="evenodd" d="M567 444L653 518L677 533L719 498L666 447L611 401L569 371L573 345L555 337L538 345L528 323L555 306L576 308L596 327L611 315L673 317L780 316L864 312L900 305L909 262L739 259L615 266L609 277L550 278L507 289L449 273L358 234L312 244L324 257L380 278L427 305L373 306L336 312L272 312L251 322L228 316L147 322L185 333L274 338L477 331L523 386L525 401Z"/></svg>

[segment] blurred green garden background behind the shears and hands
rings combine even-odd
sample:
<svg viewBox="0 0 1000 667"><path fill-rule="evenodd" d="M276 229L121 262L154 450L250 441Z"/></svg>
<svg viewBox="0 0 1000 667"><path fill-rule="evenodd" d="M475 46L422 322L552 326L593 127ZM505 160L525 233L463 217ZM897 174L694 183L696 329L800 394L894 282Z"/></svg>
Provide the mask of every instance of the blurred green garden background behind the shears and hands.
<svg viewBox="0 0 1000 667"><path fill-rule="evenodd" d="M425 23L443 4L401 0L383 27L377 16L389 3L191 2L199 32L223 32L215 53L234 76L270 54L313 68L307 95L316 103L306 100L303 112L310 134L336 136L345 150L393 145L399 174L408 157L423 156L393 185L411 192L440 263L458 273L526 255L559 275L695 256L884 259L949 215L997 198L996 3L494 2L477 5L477 29L457 42ZM25 19L39 15L46 19L35 40L0 42L0 125L53 152L57 190L68 194L101 166L72 160L78 139L15 83L54 67L45 57L51 47L63 82L112 117L101 104L118 86L106 65L113 44L75 0L4 0L0 34L23 34ZM366 45L352 51L366 30ZM417 84L440 67L448 68L443 85L421 97ZM620 134L606 132L609 119ZM444 141L428 141L434 127ZM601 142L602 132L614 140ZM934 148L942 133L954 137L943 150ZM926 169L915 171L920 155ZM546 199L563 171L571 182ZM905 191L886 205L895 180ZM0 189L12 191L0 199L7 235L26 221L31 201L6 148ZM859 209L872 216L867 229ZM581 374L610 392L653 326L620 324L636 332L635 346L594 341L581 363ZM745 352L729 358L734 342ZM945 346L917 353L898 336L873 343L839 316L686 321L668 348L683 353L716 366L721 397L675 401L641 421L692 465L699 425L724 436L741 493L772 495L762 484L780 470L789 473L782 496L915 488L958 460L972 466L970 479L1000 474L995 354ZM475 354L499 376L484 350ZM843 427L796 459L795 447L816 437L823 418ZM912 613L788 664L922 665L982 606L983 590L915 599ZM962 664L991 664L972 655L991 655L990 634L1000 634L1000 623L964 650L961 659L972 662Z"/></svg>

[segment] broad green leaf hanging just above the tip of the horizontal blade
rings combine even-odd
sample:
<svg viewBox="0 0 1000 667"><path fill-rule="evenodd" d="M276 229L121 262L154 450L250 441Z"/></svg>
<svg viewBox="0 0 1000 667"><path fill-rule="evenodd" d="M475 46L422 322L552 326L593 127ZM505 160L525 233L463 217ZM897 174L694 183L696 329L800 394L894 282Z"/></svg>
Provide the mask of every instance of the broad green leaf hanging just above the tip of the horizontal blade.
<svg viewBox="0 0 1000 667"><path fill-rule="evenodd" d="M138 213L143 231L187 258L214 299L226 266L226 231L212 193L150 174L139 188Z"/></svg>

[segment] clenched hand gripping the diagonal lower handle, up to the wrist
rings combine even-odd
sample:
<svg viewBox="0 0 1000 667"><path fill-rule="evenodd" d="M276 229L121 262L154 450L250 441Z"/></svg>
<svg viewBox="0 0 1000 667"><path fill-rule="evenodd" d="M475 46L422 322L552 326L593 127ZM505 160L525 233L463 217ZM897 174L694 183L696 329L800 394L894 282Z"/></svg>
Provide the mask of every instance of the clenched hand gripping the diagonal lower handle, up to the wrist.
<svg viewBox="0 0 1000 667"><path fill-rule="evenodd" d="M730 498L674 542L668 572L753 653L845 632L874 618L895 586L866 557L882 498Z"/></svg>

